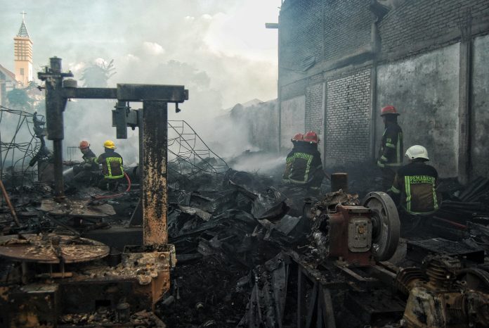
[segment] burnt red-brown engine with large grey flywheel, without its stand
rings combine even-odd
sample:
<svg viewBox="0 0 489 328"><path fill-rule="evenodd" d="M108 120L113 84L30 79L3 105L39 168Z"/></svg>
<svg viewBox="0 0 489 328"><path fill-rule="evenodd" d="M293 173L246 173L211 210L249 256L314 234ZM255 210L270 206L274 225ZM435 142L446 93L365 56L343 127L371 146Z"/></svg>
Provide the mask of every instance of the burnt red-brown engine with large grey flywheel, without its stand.
<svg viewBox="0 0 489 328"><path fill-rule="evenodd" d="M398 246L400 222L396 205L384 192L371 192L360 206L337 191L311 210L311 239L323 260L362 267L389 260Z"/></svg>

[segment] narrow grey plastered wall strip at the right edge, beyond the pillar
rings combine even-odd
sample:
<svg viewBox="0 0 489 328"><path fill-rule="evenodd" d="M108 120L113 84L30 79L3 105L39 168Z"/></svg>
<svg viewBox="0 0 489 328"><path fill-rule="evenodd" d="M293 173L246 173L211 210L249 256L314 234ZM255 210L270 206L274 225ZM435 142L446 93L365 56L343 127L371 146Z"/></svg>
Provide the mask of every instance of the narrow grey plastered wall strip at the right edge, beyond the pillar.
<svg viewBox="0 0 489 328"><path fill-rule="evenodd" d="M474 40L471 162L473 175L489 177L489 36Z"/></svg>

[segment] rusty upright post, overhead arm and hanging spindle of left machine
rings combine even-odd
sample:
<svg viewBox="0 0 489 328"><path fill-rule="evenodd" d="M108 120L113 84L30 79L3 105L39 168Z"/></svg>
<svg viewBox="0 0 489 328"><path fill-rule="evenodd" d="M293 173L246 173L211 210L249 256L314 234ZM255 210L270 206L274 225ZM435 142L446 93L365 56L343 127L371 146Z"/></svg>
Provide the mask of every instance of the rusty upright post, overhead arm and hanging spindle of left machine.
<svg viewBox="0 0 489 328"><path fill-rule="evenodd" d="M168 103L188 99L188 90L178 85L117 84L117 88L78 88L72 72L63 73L61 58L50 58L50 65L39 72L46 82L46 129L53 141L55 198L62 201L63 190L63 111L68 99L117 99L117 137L126 137L127 101L142 101L138 111L140 129L141 199L143 210L143 243L167 244L167 109ZM126 118L121 113L126 113ZM133 122L131 122L133 127Z"/></svg>

